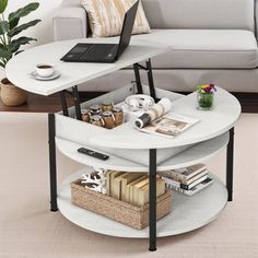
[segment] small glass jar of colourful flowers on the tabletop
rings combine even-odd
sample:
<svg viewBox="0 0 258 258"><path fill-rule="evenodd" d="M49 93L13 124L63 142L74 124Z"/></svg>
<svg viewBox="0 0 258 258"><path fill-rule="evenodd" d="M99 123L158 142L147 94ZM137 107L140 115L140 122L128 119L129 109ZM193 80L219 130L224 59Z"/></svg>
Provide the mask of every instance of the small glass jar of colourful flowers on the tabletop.
<svg viewBox="0 0 258 258"><path fill-rule="evenodd" d="M197 108L201 110L212 109L214 92L216 92L216 89L212 83L197 86Z"/></svg>

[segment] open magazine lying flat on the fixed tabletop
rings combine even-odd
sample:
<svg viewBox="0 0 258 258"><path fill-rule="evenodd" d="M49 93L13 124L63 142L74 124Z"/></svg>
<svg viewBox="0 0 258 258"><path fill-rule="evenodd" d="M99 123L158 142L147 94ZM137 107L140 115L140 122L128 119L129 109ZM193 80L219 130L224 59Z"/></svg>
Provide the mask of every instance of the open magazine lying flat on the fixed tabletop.
<svg viewBox="0 0 258 258"><path fill-rule="evenodd" d="M143 128L138 128L142 132L148 132L167 138L175 138L199 121L197 118L187 117L174 113L168 113L155 119Z"/></svg>

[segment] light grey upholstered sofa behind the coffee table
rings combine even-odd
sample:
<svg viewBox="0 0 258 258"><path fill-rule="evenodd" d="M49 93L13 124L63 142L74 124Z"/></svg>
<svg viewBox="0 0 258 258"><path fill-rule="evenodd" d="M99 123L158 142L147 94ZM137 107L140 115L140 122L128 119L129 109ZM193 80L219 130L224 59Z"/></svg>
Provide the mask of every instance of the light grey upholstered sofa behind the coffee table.
<svg viewBox="0 0 258 258"><path fill-rule="evenodd" d="M192 91L213 82L232 92L258 92L257 1L142 0L152 33L132 40L169 48L152 60L155 85ZM80 0L63 0L52 22L56 40L90 36ZM125 69L81 89L110 91L132 80L133 72Z"/></svg>

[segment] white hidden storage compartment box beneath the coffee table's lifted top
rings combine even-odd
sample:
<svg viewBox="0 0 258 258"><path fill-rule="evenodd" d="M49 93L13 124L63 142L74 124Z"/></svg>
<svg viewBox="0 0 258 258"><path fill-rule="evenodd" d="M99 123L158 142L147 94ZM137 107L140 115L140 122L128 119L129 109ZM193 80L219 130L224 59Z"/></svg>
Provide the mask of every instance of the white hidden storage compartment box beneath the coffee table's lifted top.
<svg viewBox="0 0 258 258"><path fill-rule="evenodd" d="M175 94L173 92L164 91L161 89L155 89L156 96L159 98L167 97L172 102L181 97L178 94ZM106 99L112 99L115 104L121 103L126 99L126 97L133 95L137 93L137 86L134 84L127 85L124 87L120 87L114 92L104 94L102 96L98 96L96 98L93 98L91 101L84 102L81 104L81 108L87 109L91 105L94 104L101 104ZM149 94L149 87L143 85L143 93ZM70 117L66 117L62 115L62 113L56 114L56 137L60 139L64 139L68 141L72 141L79 144L82 144L84 146L87 146L89 149L99 150L99 152L105 152L110 155L116 155L132 162L137 162L141 165L149 166L149 150L143 149L116 149L116 148L101 148L97 145L92 144L92 139L98 138L98 136L103 136L105 133L109 133L110 131L117 130L121 127L127 127L127 122L122 124L119 127L114 128L113 130L93 126L89 122L83 122L80 120L74 119L75 116L75 108L71 107L69 108L69 115ZM128 121L130 122L130 121ZM167 159L171 159L172 156L177 155L178 153L185 151L188 148L191 148L194 144L186 144L183 146L175 146L175 148L166 148L166 149L159 149L156 152L156 163L160 165L162 162L166 161Z"/></svg>

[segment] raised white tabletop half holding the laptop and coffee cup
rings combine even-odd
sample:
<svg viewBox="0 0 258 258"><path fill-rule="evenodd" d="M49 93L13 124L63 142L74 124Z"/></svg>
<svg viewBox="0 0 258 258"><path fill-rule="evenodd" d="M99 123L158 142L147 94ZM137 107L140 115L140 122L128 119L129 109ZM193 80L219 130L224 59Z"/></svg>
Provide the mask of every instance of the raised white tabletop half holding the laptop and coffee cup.
<svg viewBox="0 0 258 258"><path fill-rule="evenodd" d="M17 87L40 95L50 95L71 86L84 83L101 75L117 71L136 62L146 60L165 51L165 47L155 47L133 40L114 63L64 62L62 58L78 43L118 43L118 38L83 38L56 42L27 49L13 57L5 67L7 78ZM32 77L36 66L47 63L55 67L60 78L52 81L37 81Z"/></svg>

